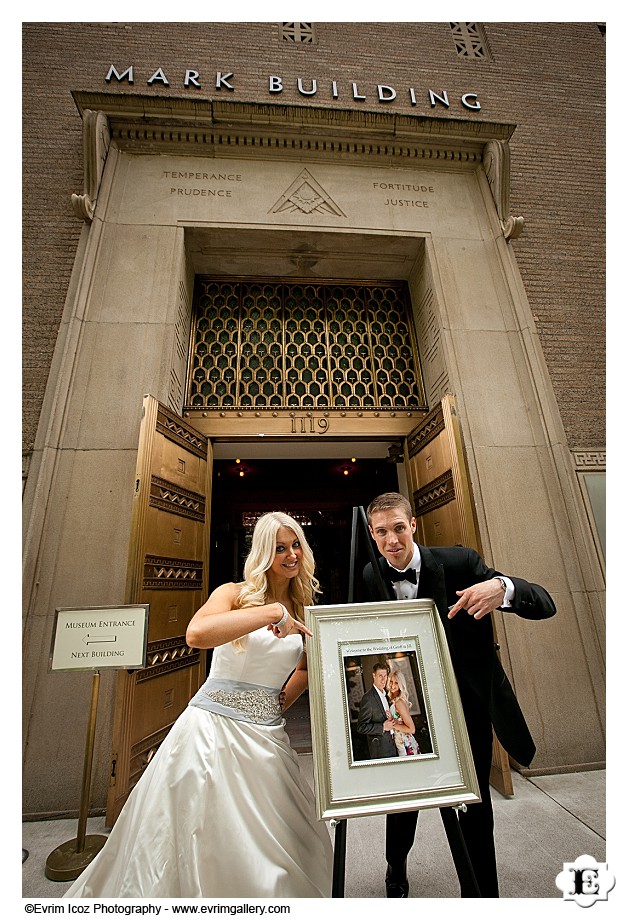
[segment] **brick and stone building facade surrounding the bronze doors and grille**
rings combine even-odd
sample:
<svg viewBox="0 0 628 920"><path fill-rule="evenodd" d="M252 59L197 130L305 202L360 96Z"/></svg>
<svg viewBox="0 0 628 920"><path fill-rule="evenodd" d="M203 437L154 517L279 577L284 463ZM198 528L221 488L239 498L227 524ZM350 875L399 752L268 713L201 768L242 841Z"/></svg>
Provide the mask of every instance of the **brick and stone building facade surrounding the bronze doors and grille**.
<svg viewBox="0 0 628 920"><path fill-rule="evenodd" d="M428 408L456 398L484 552L560 610L532 630L497 623L534 768L603 762L603 553L580 475L604 451L603 37L593 23L307 36L24 27L29 814L73 807L83 738L50 725L58 706L81 724L86 690L46 674L52 612L125 596L139 407L150 393L182 411L199 273L407 282ZM281 413L190 415L209 438L261 427L290 449ZM383 416L320 430L333 444L413 425Z"/></svg>

